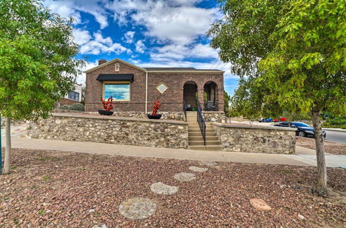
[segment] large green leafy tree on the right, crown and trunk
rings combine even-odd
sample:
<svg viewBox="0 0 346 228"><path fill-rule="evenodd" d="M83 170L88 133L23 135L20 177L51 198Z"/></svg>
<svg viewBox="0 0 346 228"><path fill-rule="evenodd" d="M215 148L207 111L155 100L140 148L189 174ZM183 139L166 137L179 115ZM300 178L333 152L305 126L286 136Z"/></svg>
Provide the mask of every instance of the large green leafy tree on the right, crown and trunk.
<svg viewBox="0 0 346 228"><path fill-rule="evenodd" d="M217 39L213 37L214 47L227 43L223 39L224 36L220 37L222 33L218 32L222 29L237 41L248 39L249 44L255 41L268 41L265 49L248 47L248 44L241 42L231 45L231 49L233 46L239 49L235 48L234 52L242 61L235 59L237 56L235 54L230 54L229 60L238 67L244 65L247 69L248 66L253 66L251 59L256 57L253 70L247 70L248 75L245 75L247 77L240 83L235 93L238 95L234 98L238 102L236 109L244 107L240 104L244 101L248 105L245 108L251 108L252 113L257 111L258 115L268 112L277 115L282 111L292 113L309 111L316 135L318 164L316 191L320 195L325 194L327 169L320 113L322 110L334 114L346 112L345 0L295 0L282 2L280 6L273 1L222 2L224 4L221 4L221 8L228 4L237 6L224 11L230 21L235 21L235 25L232 25L235 29L226 30L228 26L225 23L222 23L224 29L215 24L217 28L214 26L210 30L210 35L217 37ZM260 12L267 11L266 17L258 12L257 6ZM273 6L278 7L276 15L270 13ZM248 13L242 15L243 11ZM248 15L253 15L255 18L249 19ZM242 22L240 23L242 26L252 25L251 21L257 21L259 26L242 32L241 27L237 26L239 21ZM271 29L268 30L266 25ZM221 46L219 48L222 49ZM243 51L243 48L250 50ZM221 55L220 57L225 61Z"/></svg>

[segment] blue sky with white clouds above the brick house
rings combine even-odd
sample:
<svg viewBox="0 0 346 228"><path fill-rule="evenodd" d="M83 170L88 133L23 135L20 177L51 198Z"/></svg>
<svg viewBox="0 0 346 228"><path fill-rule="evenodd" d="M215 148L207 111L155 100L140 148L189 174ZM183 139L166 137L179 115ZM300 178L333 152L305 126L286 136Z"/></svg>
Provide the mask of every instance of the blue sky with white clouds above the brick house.
<svg viewBox="0 0 346 228"><path fill-rule="evenodd" d="M206 32L222 17L215 0L46 0L62 17L75 18L78 58L86 68L120 58L142 67L217 68L233 94L238 77L219 61ZM78 77L85 82L85 75Z"/></svg>

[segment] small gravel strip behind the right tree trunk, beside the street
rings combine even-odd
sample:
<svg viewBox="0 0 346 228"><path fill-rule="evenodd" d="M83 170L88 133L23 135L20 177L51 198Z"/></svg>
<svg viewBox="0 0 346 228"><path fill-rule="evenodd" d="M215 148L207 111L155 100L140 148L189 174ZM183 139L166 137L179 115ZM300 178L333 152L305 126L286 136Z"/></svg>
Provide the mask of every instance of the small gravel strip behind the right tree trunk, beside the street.
<svg viewBox="0 0 346 228"><path fill-rule="evenodd" d="M311 137L297 136L295 137L295 145L316 150L315 139ZM346 144L325 141L325 152L336 155L346 155Z"/></svg>

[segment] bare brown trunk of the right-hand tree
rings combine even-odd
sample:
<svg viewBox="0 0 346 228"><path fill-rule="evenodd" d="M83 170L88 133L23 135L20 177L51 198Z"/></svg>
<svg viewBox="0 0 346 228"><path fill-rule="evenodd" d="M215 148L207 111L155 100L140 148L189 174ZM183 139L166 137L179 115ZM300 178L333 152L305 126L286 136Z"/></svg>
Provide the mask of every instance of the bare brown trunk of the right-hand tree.
<svg viewBox="0 0 346 228"><path fill-rule="evenodd" d="M327 193L327 168L325 164L325 150L323 147L323 134L320 123L320 111L312 111L313 130L315 131L316 156L317 156L317 192L322 196Z"/></svg>

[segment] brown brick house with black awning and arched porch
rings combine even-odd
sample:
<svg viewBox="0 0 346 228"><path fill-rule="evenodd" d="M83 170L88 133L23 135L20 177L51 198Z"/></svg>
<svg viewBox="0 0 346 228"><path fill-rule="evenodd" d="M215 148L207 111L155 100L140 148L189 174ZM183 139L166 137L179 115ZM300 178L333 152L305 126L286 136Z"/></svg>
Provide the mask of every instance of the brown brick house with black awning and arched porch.
<svg viewBox="0 0 346 228"><path fill-rule="evenodd" d="M183 101L194 109L196 96L206 111L224 111L222 70L140 68L120 59L101 59L85 73L86 111L102 109L100 97L111 95L114 111L149 113L155 99L162 103L160 111L183 111Z"/></svg>

